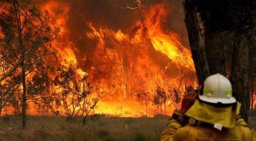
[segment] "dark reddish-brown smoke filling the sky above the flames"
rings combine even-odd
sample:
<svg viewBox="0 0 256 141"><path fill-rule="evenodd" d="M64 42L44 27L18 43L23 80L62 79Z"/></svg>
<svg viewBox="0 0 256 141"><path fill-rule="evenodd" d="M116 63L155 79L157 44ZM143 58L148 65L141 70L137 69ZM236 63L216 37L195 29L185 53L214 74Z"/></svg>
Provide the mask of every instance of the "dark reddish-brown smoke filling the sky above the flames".
<svg viewBox="0 0 256 141"><path fill-rule="evenodd" d="M162 3L161 0L143 1L142 5L146 8L150 5ZM141 12L129 8L121 7L136 7L137 3L134 0L75 0L70 1L70 11L68 26L71 29L70 38L75 42L76 48L79 50L78 58L83 58L87 54L88 59L92 57L95 51L96 41L88 40L85 32L90 31L87 22L91 22L98 29L100 26L121 30L126 32L126 29L132 28L138 20L142 20ZM181 1L169 0L168 5L171 9L163 27L166 30L172 30L180 35L181 42L187 47L187 35L184 24L184 13ZM82 38L78 38L82 37ZM91 54L90 54L91 52ZM88 62L89 63L89 62ZM90 64L87 64L90 66Z"/></svg>

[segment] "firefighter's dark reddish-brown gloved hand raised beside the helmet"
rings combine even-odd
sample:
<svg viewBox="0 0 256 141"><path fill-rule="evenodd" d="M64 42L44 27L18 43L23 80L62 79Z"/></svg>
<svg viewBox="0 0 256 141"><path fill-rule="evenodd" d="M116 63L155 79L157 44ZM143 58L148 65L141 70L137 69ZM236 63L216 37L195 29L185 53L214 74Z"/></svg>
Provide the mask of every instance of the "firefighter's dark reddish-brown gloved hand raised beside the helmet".
<svg viewBox="0 0 256 141"><path fill-rule="evenodd" d="M197 93L195 91L185 94L180 111L186 112L194 104Z"/></svg>

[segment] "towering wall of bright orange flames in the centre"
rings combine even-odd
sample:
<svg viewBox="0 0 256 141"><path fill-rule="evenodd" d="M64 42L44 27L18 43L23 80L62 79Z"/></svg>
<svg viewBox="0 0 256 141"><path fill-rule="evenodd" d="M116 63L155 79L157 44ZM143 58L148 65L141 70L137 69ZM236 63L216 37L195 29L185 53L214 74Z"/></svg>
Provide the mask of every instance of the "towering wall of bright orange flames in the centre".
<svg viewBox="0 0 256 141"><path fill-rule="evenodd" d="M179 104L175 102L173 92L168 90L175 89L180 92L179 97L182 97L186 86L196 85L190 50L184 47L177 33L162 27L170 12L166 9L165 2L145 9L140 1L138 5L139 8L130 9L140 12L143 20L136 21L135 25L128 29L114 30L104 24L97 27L93 21L86 23L89 30L84 34L88 40L96 42L94 57L88 60L86 55L82 59L77 55L79 50L75 47L76 41L69 38L69 3L49 0L38 4L41 11L48 11L51 17L50 26L60 29L59 40L52 43L58 50L56 61L59 64L54 64L55 67L72 66L79 78L90 75L98 84L116 85L113 94L97 104L95 113L139 117L145 115L147 106L148 116L171 114ZM90 61L93 65L89 69L79 68L82 64L78 60ZM98 62L102 63L98 65ZM106 73L106 76L100 77L101 73ZM161 102L161 105L153 102L157 95L156 87L161 87L170 97ZM148 93L147 104L144 103L145 98L136 96L142 92ZM61 111L61 108L59 110ZM29 114L38 113L30 108Z"/></svg>

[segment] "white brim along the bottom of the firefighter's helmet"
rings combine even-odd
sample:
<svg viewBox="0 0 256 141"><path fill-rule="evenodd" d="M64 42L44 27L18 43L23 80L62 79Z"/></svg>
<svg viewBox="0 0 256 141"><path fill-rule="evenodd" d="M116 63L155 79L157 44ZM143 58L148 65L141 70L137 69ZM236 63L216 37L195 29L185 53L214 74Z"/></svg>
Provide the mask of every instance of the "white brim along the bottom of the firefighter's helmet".
<svg viewBox="0 0 256 141"><path fill-rule="evenodd" d="M199 95L198 96L200 100L204 102L209 102L209 103L222 103L222 104L232 104L236 103L237 100L234 97L230 98L214 98L214 97L207 97L205 95Z"/></svg>

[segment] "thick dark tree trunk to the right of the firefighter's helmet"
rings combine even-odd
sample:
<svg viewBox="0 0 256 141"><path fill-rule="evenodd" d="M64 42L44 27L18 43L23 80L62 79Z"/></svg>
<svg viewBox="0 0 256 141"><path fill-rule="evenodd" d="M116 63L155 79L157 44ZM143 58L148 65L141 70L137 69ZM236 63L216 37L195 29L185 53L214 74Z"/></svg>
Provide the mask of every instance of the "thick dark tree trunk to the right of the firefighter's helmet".
<svg viewBox="0 0 256 141"><path fill-rule="evenodd" d="M242 104L240 114L246 122L248 121L248 111L250 110L248 65L248 37L242 33L235 32L230 80L234 97Z"/></svg>

